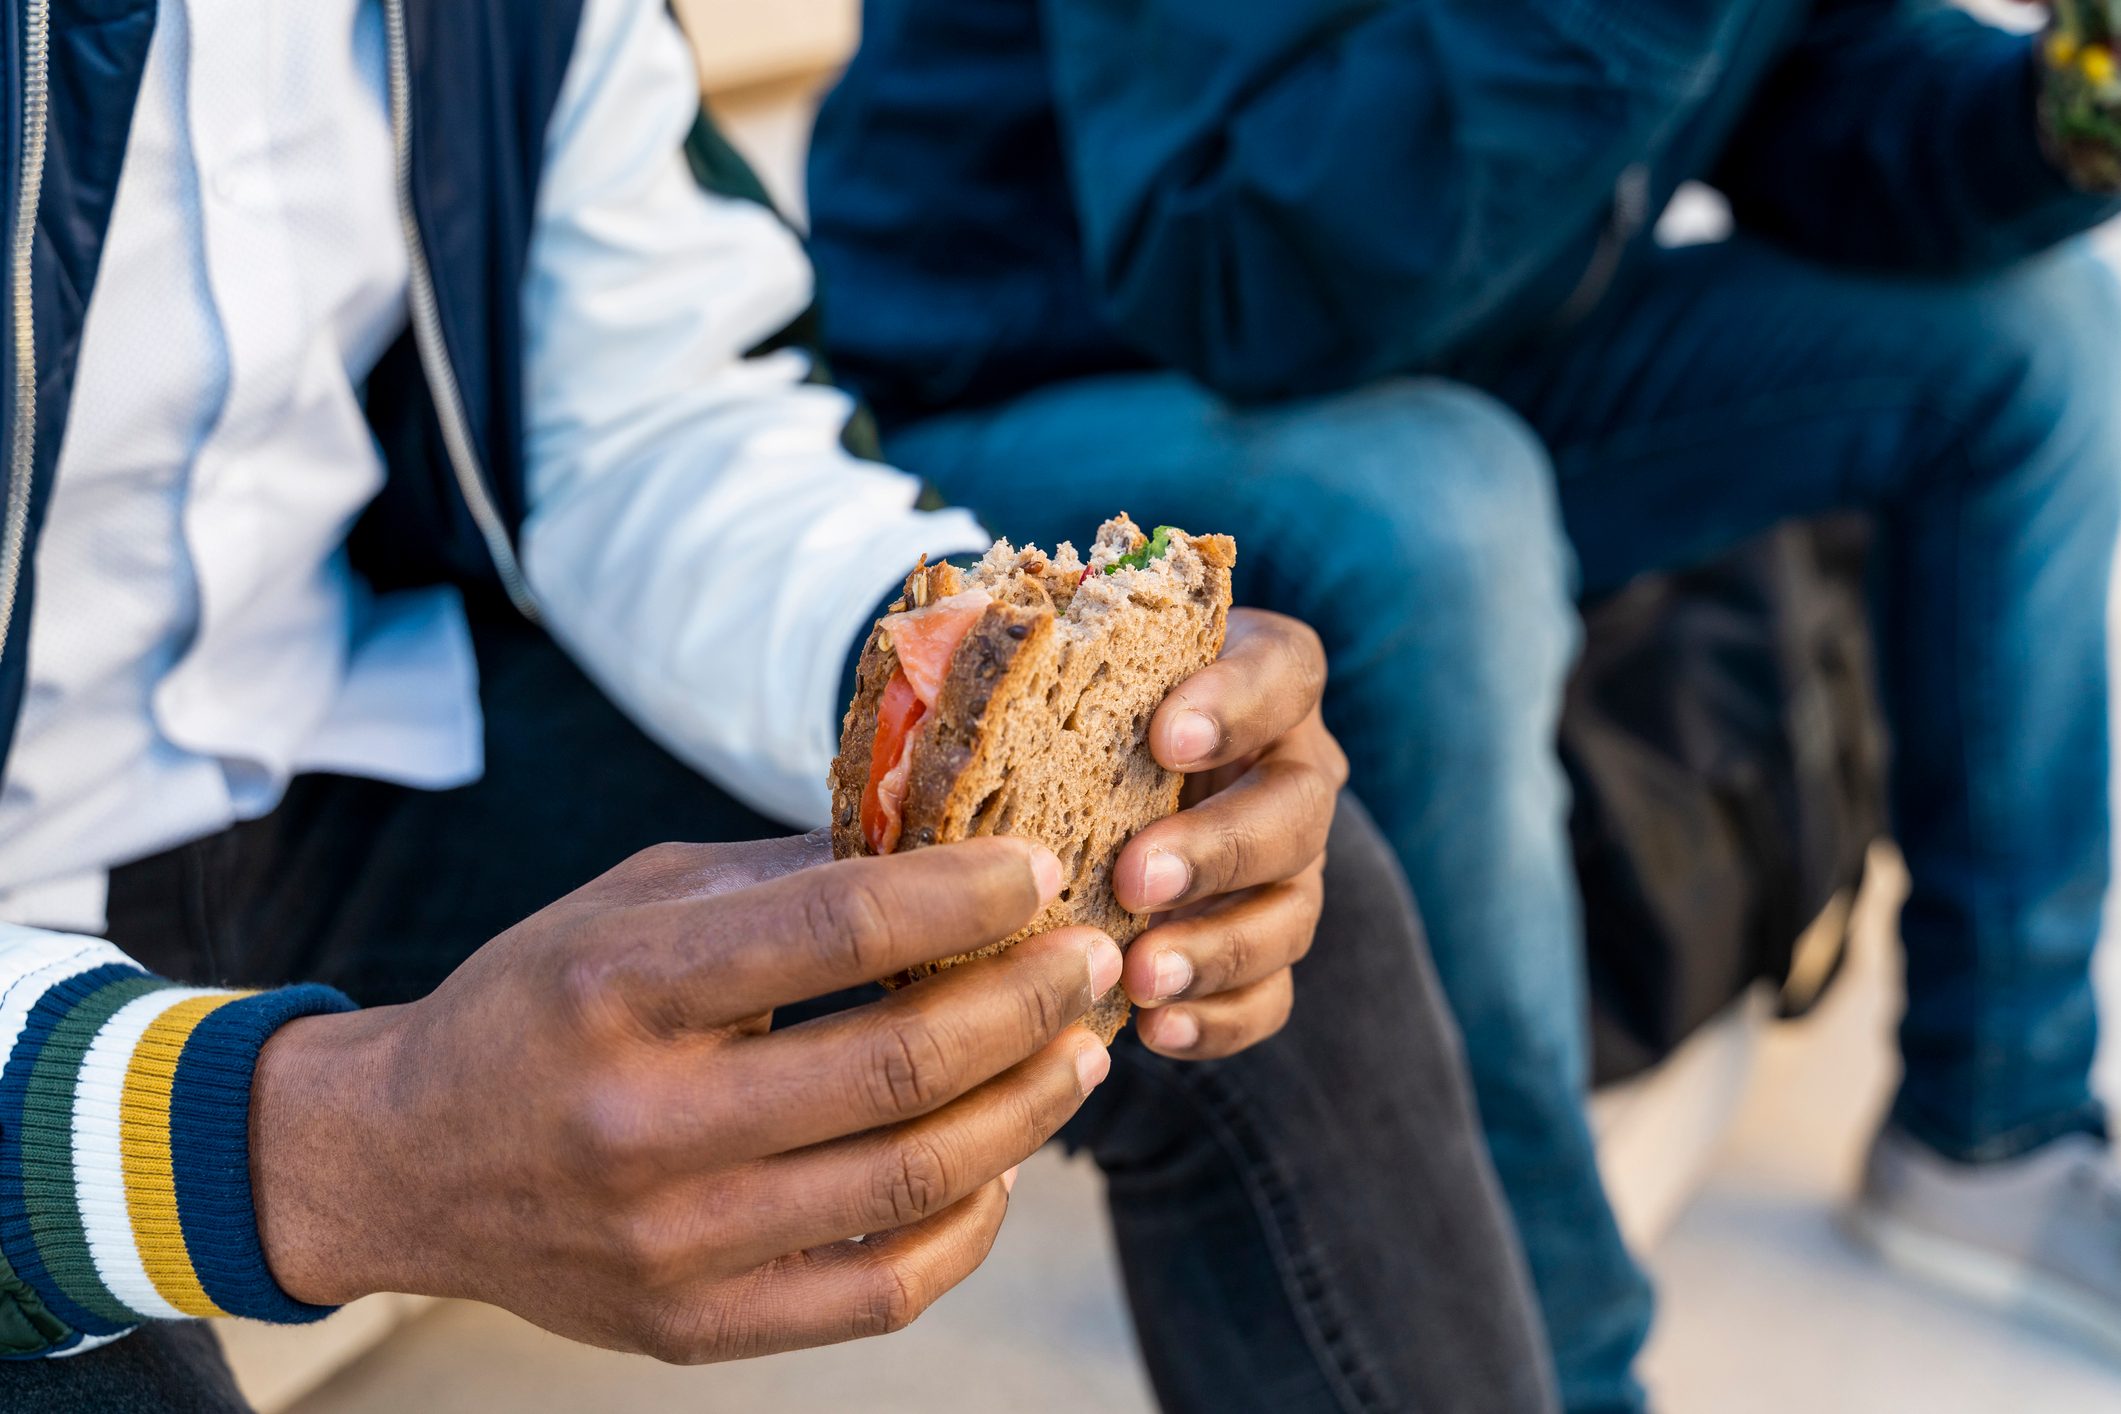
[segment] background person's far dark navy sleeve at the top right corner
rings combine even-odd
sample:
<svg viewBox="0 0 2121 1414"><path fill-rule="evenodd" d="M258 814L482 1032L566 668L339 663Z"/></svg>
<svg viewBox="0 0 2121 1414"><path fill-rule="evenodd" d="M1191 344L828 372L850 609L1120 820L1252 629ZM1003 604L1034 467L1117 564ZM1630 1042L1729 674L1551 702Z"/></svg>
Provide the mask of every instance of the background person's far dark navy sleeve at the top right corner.
<svg viewBox="0 0 2121 1414"><path fill-rule="evenodd" d="M1737 220L1820 261L2017 261L2121 206L2040 151L2034 40L1936 0L1826 0L1716 174Z"/></svg>

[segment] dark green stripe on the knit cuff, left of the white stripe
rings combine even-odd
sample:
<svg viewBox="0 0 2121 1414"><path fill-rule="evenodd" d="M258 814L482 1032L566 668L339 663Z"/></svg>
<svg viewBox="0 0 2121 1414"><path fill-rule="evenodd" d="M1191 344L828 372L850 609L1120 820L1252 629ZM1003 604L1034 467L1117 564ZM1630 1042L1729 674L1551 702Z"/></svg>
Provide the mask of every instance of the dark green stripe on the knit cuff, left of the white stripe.
<svg viewBox="0 0 2121 1414"><path fill-rule="evenodd" d="M117 1015L119 1007L170 986L174 984L161 977L142 975L91 992L53 1026L30 1071L21 1104L23 1206L36 1253L59 1291L85 1310L121 1325L142 1316L104 1287L89 1255L89 1234L81 1225L81 1200L74 1189L74 1088L95 1032Z"/></svg>

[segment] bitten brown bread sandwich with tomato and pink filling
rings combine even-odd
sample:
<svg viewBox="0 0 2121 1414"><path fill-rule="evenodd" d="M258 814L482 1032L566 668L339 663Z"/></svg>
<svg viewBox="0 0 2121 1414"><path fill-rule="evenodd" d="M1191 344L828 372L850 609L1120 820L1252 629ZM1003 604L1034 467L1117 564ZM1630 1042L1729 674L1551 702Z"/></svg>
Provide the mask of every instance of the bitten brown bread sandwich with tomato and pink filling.
<svg viewBox="0 0 2121 1414"><path fill-rule="evenodd" d="M1018 835L1060 859L1063 888L1014 937L887 977L906 986L1069 924L1126 948L1147 926L1111 892L1120 848L1179 808L1150 719L1222 653L1237 543L1126 515L1088 562L999 541L969 570L914 566L861 651L831 763L836 859ZM1111 1041L1124 988L1084 1024Z"/></svg>

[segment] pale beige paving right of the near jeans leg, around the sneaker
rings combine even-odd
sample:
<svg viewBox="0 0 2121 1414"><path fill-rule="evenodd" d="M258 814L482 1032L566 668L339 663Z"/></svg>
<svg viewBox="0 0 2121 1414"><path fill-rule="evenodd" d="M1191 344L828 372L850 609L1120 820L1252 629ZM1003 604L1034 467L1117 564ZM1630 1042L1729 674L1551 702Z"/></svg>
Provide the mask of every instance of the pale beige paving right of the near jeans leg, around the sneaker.
<svg viewBox="0 0 2121 1414"><path fill-rule="evenodd" d="M2121 952L2104 962L2121 998ZM1835 1227L1892 1088L1896 1018L1898 960L1873 935L1826 1007L1767 1041L1707 1187L1652 1263L1646 1367L1667 1410L2121 1412L2121 1367L1913 1289Z"/></svg>

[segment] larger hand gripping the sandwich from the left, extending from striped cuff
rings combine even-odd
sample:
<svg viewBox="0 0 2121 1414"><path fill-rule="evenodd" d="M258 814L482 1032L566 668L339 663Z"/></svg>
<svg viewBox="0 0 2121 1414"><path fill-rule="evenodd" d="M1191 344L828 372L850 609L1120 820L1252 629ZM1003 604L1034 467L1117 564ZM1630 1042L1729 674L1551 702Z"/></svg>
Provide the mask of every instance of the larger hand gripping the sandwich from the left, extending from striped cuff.
<svg viewBox="0 0 2121 1414"><path fill-rule="evenodd" d="M683 1363L921 1314L1105 1077L1071 1022L1120 952L1065 929L768 1030L778 1005L1007 937L1060 888L1020 839L821 859L662 846L424 1001L280 1030L250 1111L280 1285L473 1297Z"/></svg>

